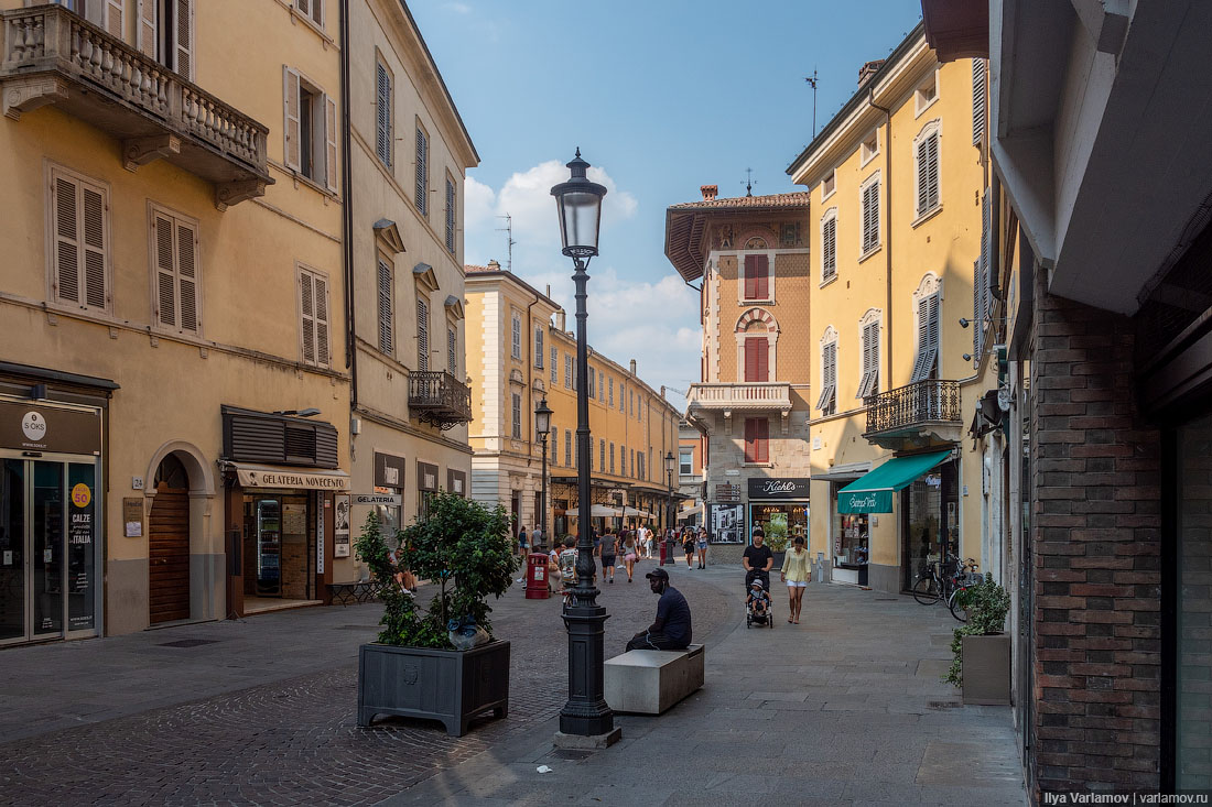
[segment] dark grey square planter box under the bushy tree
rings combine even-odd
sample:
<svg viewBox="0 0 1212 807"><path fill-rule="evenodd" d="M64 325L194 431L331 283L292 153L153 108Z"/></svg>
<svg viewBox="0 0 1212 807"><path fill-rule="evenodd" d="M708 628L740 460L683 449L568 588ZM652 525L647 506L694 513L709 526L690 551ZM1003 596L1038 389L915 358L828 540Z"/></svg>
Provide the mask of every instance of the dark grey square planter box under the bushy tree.
<svg viewBox="0 0 1212 807"><path fill-rule="evenodd" d="M492 710L509 711L509 642L469 651L362 645L358 654L358 725L376 715L423 717L462 737L467 725Z"/></svg>

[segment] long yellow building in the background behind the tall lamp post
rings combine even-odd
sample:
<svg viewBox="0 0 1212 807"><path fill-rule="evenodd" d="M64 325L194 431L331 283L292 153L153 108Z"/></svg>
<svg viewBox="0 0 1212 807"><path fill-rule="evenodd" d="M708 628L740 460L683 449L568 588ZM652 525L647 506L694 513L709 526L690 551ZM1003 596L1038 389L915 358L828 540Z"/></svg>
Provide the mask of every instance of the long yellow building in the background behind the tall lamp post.
<svg viewBox="0 0 1212 807"><path fill-rule="evenodd" d="M595 528L669 523L665 458L676 458L680 417L638 377L635 362L624 368L590 348L593 378L577 378L577 343L564 309L496 262L468 267L467 320L473 498L503 505L515 531L542 523L543 443L534 410L545 399L553 411L548 536L577 534L577 388L584 383ZM674 469L675 496L676 485Z"/></svg>

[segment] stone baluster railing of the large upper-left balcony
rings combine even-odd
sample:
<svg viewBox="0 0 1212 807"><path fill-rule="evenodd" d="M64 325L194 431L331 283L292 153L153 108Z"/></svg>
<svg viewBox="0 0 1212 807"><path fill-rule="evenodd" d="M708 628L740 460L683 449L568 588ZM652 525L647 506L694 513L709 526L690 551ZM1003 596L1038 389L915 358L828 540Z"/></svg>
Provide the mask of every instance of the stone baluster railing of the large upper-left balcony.
<svg viewBox="0 0 1212 807"><path fill-rule="evenodd" d="M59 5L13 8L0 15L4 62L0 81L57 73L102 87L178 133L204 141L224 158L268 176L269 130L201 87L168 70ZM7 108L6 99L6 108Z"/></svg>

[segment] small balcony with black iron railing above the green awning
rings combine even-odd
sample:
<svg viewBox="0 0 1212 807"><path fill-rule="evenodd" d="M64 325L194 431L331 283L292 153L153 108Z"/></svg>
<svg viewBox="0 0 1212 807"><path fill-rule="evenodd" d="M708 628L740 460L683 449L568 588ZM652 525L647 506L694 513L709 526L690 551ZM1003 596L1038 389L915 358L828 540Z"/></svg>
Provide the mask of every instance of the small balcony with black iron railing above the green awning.
<svg viewBox="0 0 1212 807"><path fill-rule="evenodd" d="M927 378L864 399L868 442L893 451L957 442L960 383Z"/></svg>

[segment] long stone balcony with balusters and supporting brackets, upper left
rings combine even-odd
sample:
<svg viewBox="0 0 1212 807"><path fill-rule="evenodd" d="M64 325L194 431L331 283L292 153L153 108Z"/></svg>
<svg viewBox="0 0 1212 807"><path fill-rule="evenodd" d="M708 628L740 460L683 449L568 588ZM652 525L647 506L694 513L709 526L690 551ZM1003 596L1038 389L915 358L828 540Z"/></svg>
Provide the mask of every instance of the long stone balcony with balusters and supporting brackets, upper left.
<svg viewBox="0 0 1212 807"><path fill-rule="evenodd" d="M124 166L162 159L215 184L219 210L261 196L269 130L64 6L0 12L4 114L55 104L121 142Z"/></svg>

